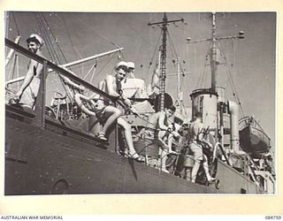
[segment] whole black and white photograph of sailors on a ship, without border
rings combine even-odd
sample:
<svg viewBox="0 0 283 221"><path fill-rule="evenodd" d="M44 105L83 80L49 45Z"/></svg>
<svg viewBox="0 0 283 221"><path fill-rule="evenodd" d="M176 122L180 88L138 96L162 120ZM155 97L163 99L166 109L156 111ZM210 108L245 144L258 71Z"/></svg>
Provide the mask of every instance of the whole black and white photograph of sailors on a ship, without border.
<svg viewBox="0 0 283 221"><path fill-rule="evenodd" d="M276 194L276 11L5 11L4 194Z"/></svg>

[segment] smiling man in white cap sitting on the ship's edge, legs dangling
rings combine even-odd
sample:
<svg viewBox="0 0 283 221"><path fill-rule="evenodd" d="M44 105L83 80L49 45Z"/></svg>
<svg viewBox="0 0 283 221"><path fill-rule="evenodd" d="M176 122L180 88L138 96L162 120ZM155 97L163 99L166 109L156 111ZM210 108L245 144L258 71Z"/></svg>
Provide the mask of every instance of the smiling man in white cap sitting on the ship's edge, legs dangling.
<svg viewBox="0 0 283 221"><path fill-rule="evenodd" d="M131 101L120 93L121 81L126 78L128 73L127 63L125 61L120 61L117 65L115 65L114 71L116 72L115 76L107 75L105 80L99 84L99 88L107 94L117 97L119 103L127 109L130 109ZM107 140L105 138L105 133L117 119L118 126L122 127L125 132L125 139L128 147L127 153L123 154L126 154L128 157L133 158L136 161L144 162L142 156L139 156L134 149L131 126L126 122L126 120L120 118L122 110L112 106L111 101L107 101L103 98L103 96L100 96L99 100L96 102L96 109L94 111L96 113L96 118L101 119L104 123L103 130L98 133L98 138Z"/></svg>

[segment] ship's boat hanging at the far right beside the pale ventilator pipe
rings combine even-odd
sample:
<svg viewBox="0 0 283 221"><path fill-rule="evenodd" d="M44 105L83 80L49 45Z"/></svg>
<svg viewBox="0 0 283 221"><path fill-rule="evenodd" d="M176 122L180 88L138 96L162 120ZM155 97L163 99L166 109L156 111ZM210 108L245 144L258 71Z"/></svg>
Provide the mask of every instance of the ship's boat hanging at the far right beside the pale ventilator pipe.
<svg viewBox="0 0 283 221"><path fill-rule="evenodd" d="M252 154L259 154L271 148L271 139L255 118L246 117L239 121L241 149Z"/></svg>

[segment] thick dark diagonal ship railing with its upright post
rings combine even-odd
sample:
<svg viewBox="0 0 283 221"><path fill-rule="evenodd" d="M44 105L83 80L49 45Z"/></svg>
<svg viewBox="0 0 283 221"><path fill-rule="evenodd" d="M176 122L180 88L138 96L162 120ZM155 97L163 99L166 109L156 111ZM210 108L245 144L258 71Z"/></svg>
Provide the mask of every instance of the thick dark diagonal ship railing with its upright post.
<svg viewBox="0 0 283 221"><path fill-rule="evenodd" d="M73 72L70 72L63 67L59 67L58 65L55 65L50 60L34 54L33 52L21 47L19 44L16 44L7 38L5 38L5 45L13 50L18 51L21 55L29 57L43 65L43 72L42 75L40 76L41 84L36 98L35 109L34 109L35 116L34 116L33 124L35 126L45 127L46 78L50 70L58 72L60 75L65 77L65 79L72 80L73 82L82 86L83 88L87 88L92 93L102 96L104 99L110 100L114 104L116 103L117 98L106 94L105 92L91 85L87 81L80 79L78 76L74 75Z"/></svg>

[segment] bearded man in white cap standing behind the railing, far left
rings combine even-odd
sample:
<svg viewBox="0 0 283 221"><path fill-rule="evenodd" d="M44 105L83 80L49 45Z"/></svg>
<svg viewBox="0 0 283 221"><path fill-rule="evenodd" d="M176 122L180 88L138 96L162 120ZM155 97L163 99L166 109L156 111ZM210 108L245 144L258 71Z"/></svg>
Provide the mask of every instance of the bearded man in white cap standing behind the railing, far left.
<svg viewBox="0 0 283 221"><path fill-rule="evenodd" d="M39 34L31 34L27 38L27 48L34 54L43 57L43 39ZM40 86L43 65L33 59L27 65L27 74L19 91L13 96L13 101L34 110L35 100Z"/></svg>

